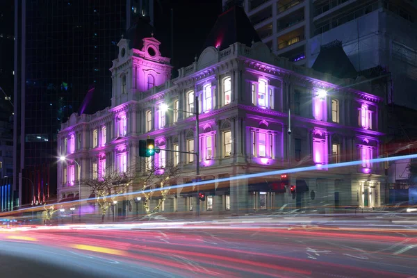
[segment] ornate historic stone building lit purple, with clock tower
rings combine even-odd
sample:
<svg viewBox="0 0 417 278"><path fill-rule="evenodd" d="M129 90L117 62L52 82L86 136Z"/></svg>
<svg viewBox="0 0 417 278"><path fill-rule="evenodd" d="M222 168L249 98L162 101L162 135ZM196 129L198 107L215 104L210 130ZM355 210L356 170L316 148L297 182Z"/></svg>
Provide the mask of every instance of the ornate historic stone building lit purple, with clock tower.
<svg viewBox="0 0 417 278"><path fill-rule="evenodd" d="M195 63L179 69L176 79L170 79L170 59L161 56L156 38L142 38L138 49L131 48L138 38L117 42L111 106L90 115L72 114L58 133L58 156L66 157L58 164L58 198L79 199L79 186L81 199L90 197L92 189L78 181L105 177L108 169L122 174L136 167L144 174L152 165L181 165L177 184L190 183L199 163L201 179L213 180L200 188L207 196L202 211L384 204L384 165L371 161L382 153L384 99L355 88L352 79L275 56L253 29L243 32L242 26L250 26L242 8L222 13L204 51ZM198 137L195 115L187 112L194 111L195 97ZM166 106L172 110L165 112ZM161 152L140 158L138 142L148 136ZM199 161L194 154L164 149L197 151ZM359 163L327 167L345 161ZM279 175L217 181L290 165L311 166L311 171L283 176L288 187ZM117 204L121 211L129 213L133 197ZM161 210L195 211L196 197L190 187L176 189Z"/></svg>

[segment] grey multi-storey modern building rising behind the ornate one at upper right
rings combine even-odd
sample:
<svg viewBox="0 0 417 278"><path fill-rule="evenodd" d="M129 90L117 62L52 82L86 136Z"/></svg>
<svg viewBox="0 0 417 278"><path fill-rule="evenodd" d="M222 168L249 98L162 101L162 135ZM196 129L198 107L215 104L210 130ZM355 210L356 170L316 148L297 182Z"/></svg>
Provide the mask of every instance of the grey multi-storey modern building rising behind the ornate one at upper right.
<svg viewBox="0 0 417 278"><path fill-rule="evenodd" d="M263 42L278 56L314 67L321 47L339 40L357 72L381 66L391 73L389 103L417 108L409 90L417 85L417 38L412 35L417 33L416 1L241 2Z"/></svg>

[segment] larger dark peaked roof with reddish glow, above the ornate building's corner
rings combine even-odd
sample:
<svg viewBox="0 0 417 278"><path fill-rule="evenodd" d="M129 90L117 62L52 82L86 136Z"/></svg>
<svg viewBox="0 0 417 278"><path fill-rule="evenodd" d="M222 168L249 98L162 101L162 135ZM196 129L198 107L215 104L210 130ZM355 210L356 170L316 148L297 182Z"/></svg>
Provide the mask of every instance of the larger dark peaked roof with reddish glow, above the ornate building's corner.
<svg viewBox="0 0 417 278"><path fill-rule="evenodd" d="M219 15L202 50L207 47L219 47L219 50L222 50L235 42L250 47L252 41L260 42L261 38L247 17L245 10L240 6L233 6Z"/></svg>

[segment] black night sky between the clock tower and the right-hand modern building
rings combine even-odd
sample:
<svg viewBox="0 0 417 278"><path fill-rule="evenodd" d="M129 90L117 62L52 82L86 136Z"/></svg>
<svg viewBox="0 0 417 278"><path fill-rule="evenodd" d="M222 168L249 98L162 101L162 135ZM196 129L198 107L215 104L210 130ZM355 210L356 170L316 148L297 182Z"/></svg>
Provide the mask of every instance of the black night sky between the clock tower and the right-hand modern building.
<svg viewBox="0 0 417 278"><path fill-rule="evenodd" d="M159 0L155 3L155 28L157 40L162 42L161 52L170 55L170 9L174 9L174 76L179 67L186 67L194 62L202 46L222 13L222 0Z"/></svg>

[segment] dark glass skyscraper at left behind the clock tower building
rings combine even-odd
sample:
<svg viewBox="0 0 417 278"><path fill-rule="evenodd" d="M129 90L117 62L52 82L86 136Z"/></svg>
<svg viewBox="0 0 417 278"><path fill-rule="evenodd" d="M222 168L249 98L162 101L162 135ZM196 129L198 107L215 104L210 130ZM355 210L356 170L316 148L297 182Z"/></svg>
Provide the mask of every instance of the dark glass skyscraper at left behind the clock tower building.
<svg viewBox="0 0 417 278"><path fill-rule="evenodd" d="M54 195L60 124L110 105L117 42L152 10L150 0L15 1L14 206Z"/></svg>

